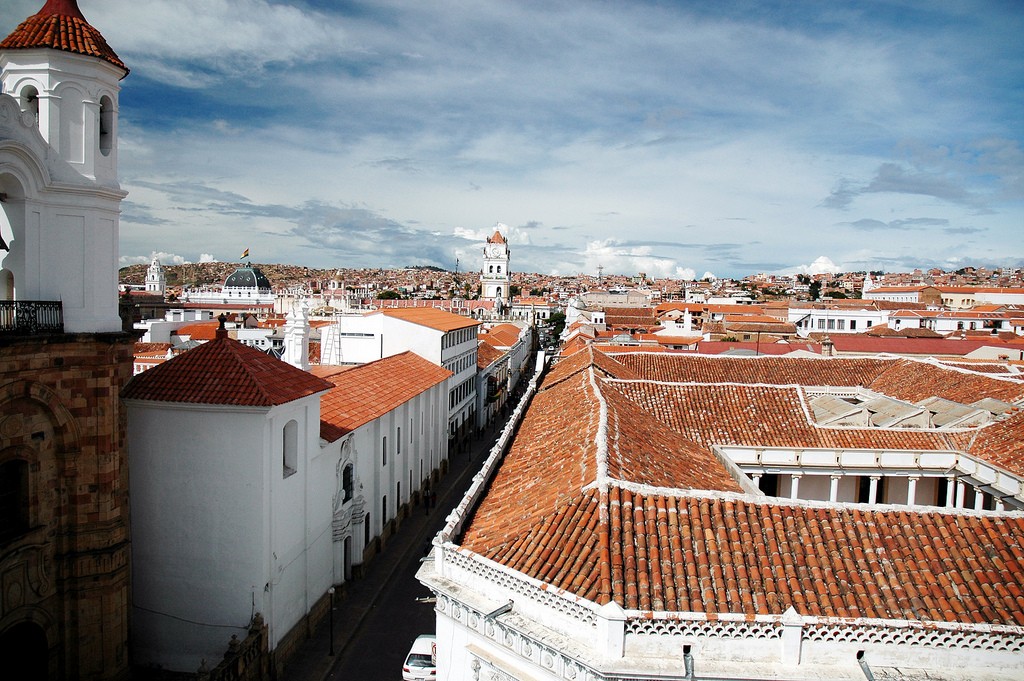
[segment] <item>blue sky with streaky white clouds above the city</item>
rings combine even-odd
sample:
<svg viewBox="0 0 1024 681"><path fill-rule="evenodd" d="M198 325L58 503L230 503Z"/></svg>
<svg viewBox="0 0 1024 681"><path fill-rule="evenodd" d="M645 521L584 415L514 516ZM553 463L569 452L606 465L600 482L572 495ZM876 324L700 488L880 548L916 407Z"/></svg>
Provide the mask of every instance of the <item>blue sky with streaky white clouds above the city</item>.
<svg viewBox="0 0 1024 681"><path fill-rule="evenodd" d="M6 35L42 0L7 0ZM1024 4L80 0L122 263L1024 266Z"/></svg>

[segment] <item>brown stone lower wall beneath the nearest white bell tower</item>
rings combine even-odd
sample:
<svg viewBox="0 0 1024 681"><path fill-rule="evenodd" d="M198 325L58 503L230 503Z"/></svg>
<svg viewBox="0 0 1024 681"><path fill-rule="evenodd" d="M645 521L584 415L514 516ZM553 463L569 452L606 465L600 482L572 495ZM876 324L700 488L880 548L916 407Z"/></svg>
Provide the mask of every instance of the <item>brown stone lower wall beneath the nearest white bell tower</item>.
<svg viewBox="0 0 1024 681"><path fill-rule="evenodd" d="M25 522L0 541L0 647L8 632L32 623L45 636L50 679L128 676L119 395L131 371L127 335L0 338L0 465L26 469Z"/></svg>

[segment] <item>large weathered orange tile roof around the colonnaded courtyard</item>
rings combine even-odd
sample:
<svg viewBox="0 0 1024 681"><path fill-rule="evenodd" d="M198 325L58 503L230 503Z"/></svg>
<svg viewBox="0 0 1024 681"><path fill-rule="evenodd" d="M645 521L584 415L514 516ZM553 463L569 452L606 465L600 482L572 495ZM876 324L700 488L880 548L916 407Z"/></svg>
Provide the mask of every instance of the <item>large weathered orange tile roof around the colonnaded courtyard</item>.
<svg viewBox="0 0 1024 681"><path fill-rule="evenodd" d="M936 372L963 378L975 399L1021 387L908 360L587 348L545 377L463 547L627 609L1022 626L1024 514L745 496L712 452L971 446L1024 467L1022 413L970 433L823 428L792 384L879 382L905 393L914 371L923 389L939 386Z"/></svg>

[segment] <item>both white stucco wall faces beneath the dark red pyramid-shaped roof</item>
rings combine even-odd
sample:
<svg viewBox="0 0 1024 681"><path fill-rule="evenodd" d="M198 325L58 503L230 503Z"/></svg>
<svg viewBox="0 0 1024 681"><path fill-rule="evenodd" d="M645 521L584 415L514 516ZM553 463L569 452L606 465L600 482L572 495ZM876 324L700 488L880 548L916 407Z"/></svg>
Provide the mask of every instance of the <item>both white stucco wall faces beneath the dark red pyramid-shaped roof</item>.
<svg viewBox="0 0 1024 681"><path fill-rule="evenodd" d="M136 663L194 672L244 638L271 649L331 586L319 397L271 409L127 400ZM295 422L294 473L285 427ZM187 437L182 437L187 433Z"/></svg>

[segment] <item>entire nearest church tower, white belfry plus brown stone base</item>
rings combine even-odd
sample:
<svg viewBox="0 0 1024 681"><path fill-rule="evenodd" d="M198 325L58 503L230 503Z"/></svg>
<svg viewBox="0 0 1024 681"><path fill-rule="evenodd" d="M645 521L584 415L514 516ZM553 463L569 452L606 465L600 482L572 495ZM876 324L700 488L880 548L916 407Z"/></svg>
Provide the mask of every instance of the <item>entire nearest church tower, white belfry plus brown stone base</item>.
<svg viewBox="0 0 1024 681"><path fill-rule="evenodd" d="M0 41L4 678L129 675L119 394L132 338L117 294L127 74L76 0L47 0Z"/></svg>

